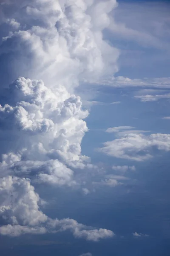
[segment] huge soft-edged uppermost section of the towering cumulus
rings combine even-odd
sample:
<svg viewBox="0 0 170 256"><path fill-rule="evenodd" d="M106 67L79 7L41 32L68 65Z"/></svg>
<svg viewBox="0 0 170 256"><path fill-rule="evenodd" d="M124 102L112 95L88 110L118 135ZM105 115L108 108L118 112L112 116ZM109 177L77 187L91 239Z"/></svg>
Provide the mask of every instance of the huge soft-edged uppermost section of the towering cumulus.
<svg viewBox="0 0 170 256"><path fill-rule="evenodd" d="M3 84L24 76L71 90L80 78L117 71L119 52L102 39L116 6L116 0L25 0L1 5L1 22L8 23L10 32L2 35L0 48ZM10 76L3 77L4 73Z"/></svg>

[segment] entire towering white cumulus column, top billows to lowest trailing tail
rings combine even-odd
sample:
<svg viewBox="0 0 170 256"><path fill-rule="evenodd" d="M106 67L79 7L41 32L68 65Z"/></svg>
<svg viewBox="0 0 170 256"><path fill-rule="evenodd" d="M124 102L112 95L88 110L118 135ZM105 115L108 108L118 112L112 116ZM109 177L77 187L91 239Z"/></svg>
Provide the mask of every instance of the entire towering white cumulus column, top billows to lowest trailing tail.
<svg viewBox="0 0 170 256"><path fill-rule="evenodd" d="M119 52L102 38L114 7L116 0L0 3L1 235L70 230L93 241L114 235L49 218L36 192L37 183L76 186L74 170L89 165L81 154L88 111L74 88L117 70Z"/></svg>

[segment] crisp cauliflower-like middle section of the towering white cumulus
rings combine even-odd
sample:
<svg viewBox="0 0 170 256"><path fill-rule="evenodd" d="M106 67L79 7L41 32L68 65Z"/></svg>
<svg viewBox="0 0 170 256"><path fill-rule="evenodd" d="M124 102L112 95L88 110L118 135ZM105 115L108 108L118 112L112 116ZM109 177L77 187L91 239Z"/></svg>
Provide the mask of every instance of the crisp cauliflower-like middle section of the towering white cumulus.
<svg viewBox="0 0 170 256"><path fill-rule="evenodd" d="M80 98L62 86L50 90L42 81L20 77L10 85L5 104L0 106L0 135L6 140L6 151L20 151L28 160L39 160L42 155L79 160L80 143L88 130L82 120L88 112L81 107ZM11 144L14 137L17 145Z"/></svg>

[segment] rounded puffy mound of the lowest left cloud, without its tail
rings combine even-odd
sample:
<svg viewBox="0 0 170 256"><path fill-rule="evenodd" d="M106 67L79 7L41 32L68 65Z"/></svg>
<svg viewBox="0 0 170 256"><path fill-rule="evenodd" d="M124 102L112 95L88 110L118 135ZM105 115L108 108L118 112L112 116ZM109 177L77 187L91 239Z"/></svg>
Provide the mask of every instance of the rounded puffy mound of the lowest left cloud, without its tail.
<svg viewBox="0 0 170 256"><path fill-rule="evenodd" d="M0 208L2 218L11 224L36 226L47 221L38 207L40 198L30 180L18 177L0 179Z"/></svg>

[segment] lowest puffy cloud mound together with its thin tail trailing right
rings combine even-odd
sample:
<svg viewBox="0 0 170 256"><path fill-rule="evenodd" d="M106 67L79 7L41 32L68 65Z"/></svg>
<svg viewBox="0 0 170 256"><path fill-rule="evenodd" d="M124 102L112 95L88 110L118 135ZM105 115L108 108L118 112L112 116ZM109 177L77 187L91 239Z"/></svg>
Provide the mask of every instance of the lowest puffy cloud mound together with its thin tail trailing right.
<svg viewBox="0 0 170 256"><path fill-rule="evenodd" d="M76 238L91 241L113 237L111 230L91 229L73 219L51 219L39 208L40 197L31 186L30 180L18 177L0 179L0 219L4 225L0 234L43 234L70 230Z"/></svg>

